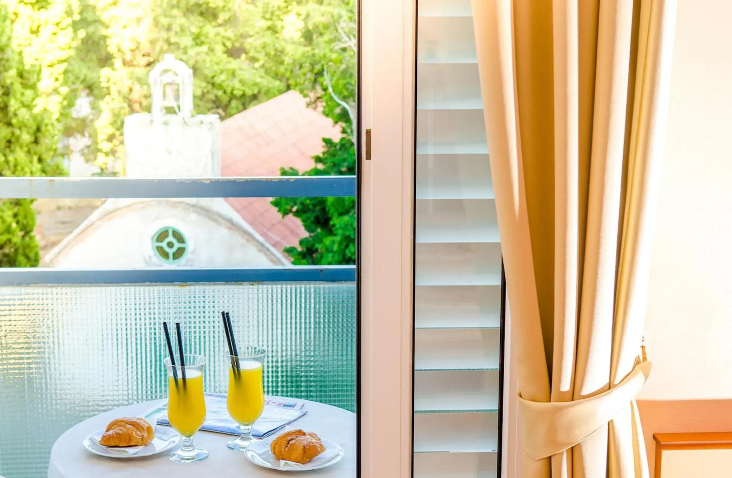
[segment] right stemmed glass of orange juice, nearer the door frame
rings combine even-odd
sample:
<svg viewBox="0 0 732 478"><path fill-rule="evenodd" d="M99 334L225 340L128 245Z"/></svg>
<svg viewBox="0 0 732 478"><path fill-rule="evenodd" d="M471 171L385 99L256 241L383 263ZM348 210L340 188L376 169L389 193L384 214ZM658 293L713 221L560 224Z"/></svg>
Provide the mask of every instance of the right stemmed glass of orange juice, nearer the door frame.
<svg viewBox="0 0 732 478"><path fill-rule="evenodd" d="M262 367L266 354L264 348L254 346L239 347L239 356L226 354L229 365L226 406L242 433L229 441L228 447L237 452L243 452L254 441L252 425L264 411Z"/></svg>

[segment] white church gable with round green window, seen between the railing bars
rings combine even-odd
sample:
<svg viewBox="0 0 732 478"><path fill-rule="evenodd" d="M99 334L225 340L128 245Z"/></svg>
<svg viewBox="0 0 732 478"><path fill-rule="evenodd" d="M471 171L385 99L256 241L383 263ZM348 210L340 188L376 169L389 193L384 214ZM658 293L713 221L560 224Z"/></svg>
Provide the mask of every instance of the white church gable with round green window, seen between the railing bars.
<svg viewBox="0 0 732 478"><path fill-rule="evenodd" d="M219 198L110 199L45 261L105 269L290 264Z"/></svg>

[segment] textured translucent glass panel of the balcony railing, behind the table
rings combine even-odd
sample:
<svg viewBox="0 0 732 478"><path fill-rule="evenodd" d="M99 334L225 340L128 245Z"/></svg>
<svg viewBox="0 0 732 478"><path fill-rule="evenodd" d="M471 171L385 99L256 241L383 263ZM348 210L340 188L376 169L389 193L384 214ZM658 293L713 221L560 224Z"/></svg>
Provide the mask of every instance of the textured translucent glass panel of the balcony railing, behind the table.
<svg viewBox="0 0 732 478"><path fill-rule="evenodd" d="M45 477L53 442L102 411L165 397L160 324L180 321L225 392L220 311L269 350L266 393L355 410L356 286L228 284L0 288L0 475ZM80 445L81 446L81 445Z"/></svg>

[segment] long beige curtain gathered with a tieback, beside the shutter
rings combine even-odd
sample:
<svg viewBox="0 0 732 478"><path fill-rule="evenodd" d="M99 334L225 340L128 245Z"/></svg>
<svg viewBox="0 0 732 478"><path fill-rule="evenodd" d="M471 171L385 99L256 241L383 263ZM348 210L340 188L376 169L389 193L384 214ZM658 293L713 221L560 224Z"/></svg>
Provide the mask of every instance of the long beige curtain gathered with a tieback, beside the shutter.
<svg viewBox="0 0 732 478"><path fill-rule="evenodd" d="M473 0L522 477L648 477L635 396L675 0Z"/></svg>

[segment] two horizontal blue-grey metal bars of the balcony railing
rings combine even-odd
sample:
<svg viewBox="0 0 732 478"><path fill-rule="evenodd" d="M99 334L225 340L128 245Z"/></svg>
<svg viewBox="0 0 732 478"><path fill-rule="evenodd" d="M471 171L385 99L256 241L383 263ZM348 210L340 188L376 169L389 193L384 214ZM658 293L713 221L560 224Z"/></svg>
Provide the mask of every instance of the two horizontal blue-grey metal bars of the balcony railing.
<svg viewBox="0 0 732 478"><path fill-rule="evenodd" d="M356 176L254 178L0 178L10 198L314 198L356 195ZM0 269L0 285L354 282L355 266Z"/></svg>

